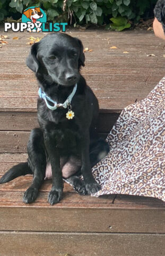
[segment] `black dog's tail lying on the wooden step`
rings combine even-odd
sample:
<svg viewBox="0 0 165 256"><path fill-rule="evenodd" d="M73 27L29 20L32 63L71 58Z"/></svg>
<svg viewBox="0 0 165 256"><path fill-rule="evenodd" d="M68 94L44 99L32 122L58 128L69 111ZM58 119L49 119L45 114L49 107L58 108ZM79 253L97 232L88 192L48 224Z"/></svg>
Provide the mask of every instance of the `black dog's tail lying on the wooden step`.
<svg viewBox="0 0 165 256"><path fill-rule="evenodd" d="M28 162L20 163L14 165L10 170L8 170L3 177L0 179L0 184L11 181L19 176L32 174L32 170L28 165Z"/></svg>

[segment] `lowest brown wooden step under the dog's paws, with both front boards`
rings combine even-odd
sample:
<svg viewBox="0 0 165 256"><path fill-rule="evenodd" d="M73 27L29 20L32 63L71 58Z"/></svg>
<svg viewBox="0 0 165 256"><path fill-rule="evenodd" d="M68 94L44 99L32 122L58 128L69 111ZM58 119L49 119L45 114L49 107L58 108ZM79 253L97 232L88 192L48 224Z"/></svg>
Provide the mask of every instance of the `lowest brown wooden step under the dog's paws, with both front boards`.
<svg viewBox="0 0 165 256"><path fill-rule="evenodd" d="M1 154L0 177L26 158L27 154ZM159 199L80 196L64 183L64 198L51 206L47 202L49 180L36 202L24 204L22 197L31 180L26 175L0 185L2 256L164 254L165 204Z"/></svg>

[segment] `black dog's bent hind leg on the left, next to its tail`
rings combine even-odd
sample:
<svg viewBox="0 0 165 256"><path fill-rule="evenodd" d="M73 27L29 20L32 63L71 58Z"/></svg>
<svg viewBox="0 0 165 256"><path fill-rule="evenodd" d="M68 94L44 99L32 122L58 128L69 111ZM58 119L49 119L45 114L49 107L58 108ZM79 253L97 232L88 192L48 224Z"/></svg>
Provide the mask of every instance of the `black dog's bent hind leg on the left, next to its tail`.
<svg viewBox="0 0 165 256"><path fill-rule="evenodd" d="M33 172L31 186L25 191L23 202L31 203L38 195L38 191L45 178L46 153L44 147L44 136L41 129L33 129L28 142L28 164Z"/></svg>

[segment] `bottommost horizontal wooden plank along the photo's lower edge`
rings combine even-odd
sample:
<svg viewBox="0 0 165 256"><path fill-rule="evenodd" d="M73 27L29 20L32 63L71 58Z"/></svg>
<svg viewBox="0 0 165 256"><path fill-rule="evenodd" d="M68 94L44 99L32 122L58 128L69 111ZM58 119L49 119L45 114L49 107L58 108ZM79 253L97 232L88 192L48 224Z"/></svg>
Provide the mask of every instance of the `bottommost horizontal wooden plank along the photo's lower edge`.
<svg viewBox="0 0 165 256"><path fill-rule="evenodd" d="M10 243L8 243L10 241ZM164 255L165 235L7 232L0 234L5 256ZM144 254L145 253L145 254Z"/></svg>

